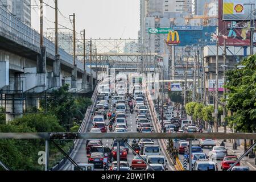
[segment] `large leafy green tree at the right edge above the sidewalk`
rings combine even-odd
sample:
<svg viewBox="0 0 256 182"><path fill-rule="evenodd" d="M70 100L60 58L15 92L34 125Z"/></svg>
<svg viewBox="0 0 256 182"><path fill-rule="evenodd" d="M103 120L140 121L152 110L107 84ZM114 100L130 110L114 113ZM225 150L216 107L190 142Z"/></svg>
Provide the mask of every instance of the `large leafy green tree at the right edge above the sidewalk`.
<svg viewBox="0 0 256 182"><path fill-rule="evenodd" d="M227 73L228 109L232 117L230 126L237 125L237 131L251 133L256 128L256 55L241 63L246 68L233 69Z"/></svg>

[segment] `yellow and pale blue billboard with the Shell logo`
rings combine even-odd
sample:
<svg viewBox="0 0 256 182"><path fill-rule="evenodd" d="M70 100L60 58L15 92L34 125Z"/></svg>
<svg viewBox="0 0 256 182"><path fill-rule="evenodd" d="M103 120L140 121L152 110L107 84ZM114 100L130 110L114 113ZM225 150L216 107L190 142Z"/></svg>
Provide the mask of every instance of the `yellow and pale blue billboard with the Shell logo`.
<svg viewBox="0 0 256 182"><path fill-rule="evenodd" d="M250 20L251 11L254 9L250 4L256 4L256 0L223 0L222 20ZM254 15L252 17L255 19Z"/></svg>

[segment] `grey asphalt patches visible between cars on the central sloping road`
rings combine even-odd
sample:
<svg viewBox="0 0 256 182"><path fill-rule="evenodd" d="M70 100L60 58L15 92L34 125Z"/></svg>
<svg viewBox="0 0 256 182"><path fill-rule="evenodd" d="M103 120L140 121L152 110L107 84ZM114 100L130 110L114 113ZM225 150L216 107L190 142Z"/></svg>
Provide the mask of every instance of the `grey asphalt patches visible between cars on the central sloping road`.
<svg viewBox="0 0 256 182"><path fill-rule="evenodd" d="M112 97L113 98L113 97ZM114 107L113 107L113 100L112 98L110 99L109 101L109 109L114 111ZM146 105L147 105L147 102L146 102ZM147 105L148 107L148 105ZM127 111L127 125L128 125L128 132L130 133L136 133L137 132L137 128L136 128L136 117L137 117L137 113L134 112L133 114L130 113L130 111L128 110ZM152 120L151 120L151 116L149 117L150 121L151 121L151 125L152 125ZM90 122L89 125L89 129L92 128L92 119L90 119ZM109 119L106 119L105 120L105 123L108 124L109 123ZM154 126L154 125L152 125ZM155 131L155 129L154 129ZM108 130L108 132L110 132ZM108 146L109 148L112 148L112 142L113 142L113 139L103 139L102 140L102 143L104 144L104 146ZM130 143L130 146L131 146L131 139L129 140L129 143ZM154 143L155 144L159 144L158 140L154 140ZM86 156L86 149L85 149L85 144L86 144L86 140L82 140L81 142L81 145L80 147L78 148L77 151L75 151L75 157L73 158L73 160L75 162L80 162L80 163L88 163L88 158ZM160 146L160 145L159 145ZM166 153L163 152L163 148L161 148L161 155L164 155L167 159L167 156L166 156ZM127 162L129 162L129 164L131 165L131 161L133 160L134 158L134 155L133 153L131 152L131 150L129 150L129 154L127 155ZM71 164L65 168L66 170L71 170ZM168 171L173 171L174 168L170 165L170 163L167 162L167 165L166 167L168 168ZM97 170L103 170L103 169L97 169Z"/></svg>

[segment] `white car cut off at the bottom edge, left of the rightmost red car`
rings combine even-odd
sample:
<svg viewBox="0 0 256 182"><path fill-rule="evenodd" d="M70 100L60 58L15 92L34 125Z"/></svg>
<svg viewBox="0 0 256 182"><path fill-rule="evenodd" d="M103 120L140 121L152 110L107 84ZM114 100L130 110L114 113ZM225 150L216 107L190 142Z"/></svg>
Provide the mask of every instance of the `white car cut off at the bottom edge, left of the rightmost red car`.
<svg viewBox="0 0 256 182"><path fill-rule="evenodd" d="M218 171L216 163L210 160L196 160L192 168L193 171Z"/></svg>

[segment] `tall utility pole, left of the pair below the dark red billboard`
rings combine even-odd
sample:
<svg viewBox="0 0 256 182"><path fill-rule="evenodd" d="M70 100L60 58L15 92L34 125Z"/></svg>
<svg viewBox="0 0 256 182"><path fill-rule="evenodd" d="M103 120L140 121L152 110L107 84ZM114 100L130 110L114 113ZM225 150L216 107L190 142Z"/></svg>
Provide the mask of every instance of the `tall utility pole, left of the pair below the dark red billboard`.
<svg viewBox="0 0 256 182"><path fill-rule="evenodd" d="M218 132L218 27L216 37L216 92L215 92L215 132Z"/></svg>

